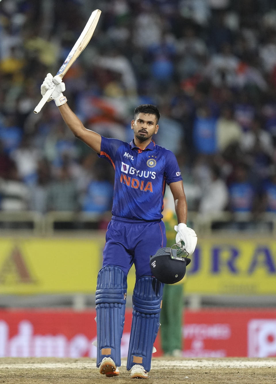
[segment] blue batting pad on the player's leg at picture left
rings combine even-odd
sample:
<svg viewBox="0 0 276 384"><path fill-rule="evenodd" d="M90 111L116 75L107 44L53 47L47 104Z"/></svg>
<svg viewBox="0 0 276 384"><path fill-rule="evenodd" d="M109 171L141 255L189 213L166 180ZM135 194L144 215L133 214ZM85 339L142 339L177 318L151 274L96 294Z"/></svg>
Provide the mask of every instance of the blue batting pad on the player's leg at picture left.
<svg viewBox="0 0 276 384"><path fill-rule="evenodd" d="M121 365L121 338L125 323L126 276L118 266L99 271L96 290L97 367L105 357Z"/></svg>

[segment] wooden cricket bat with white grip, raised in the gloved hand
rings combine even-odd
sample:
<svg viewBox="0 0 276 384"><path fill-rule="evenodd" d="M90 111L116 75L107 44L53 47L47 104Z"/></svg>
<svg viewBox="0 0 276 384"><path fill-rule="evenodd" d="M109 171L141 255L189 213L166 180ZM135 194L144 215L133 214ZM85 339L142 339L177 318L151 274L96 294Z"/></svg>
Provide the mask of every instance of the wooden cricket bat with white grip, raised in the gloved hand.
<svg viewBox="0 0 276 384"><path fill-rule="evenodd" d="M66 72L69 70L71 65L76 60L76 58L81 54L81 52L84 50L84 48L89 43L89 41L90 41L94 31L95 31L97 23L99 21L101 13L102 13L102 11L100 11L99 9L95 9L95 11L93 11L91 13L91 16L89 17L89 20L88 20L87 24L85 25L84 30L81 33L81 36L79 36L75 45L71 49L69 55L67 56L64 63L62 64L62 66L58 70L57 75L60 76L61 79L66 74ZM38 105L36 106L34 113L38 113L41 111L41 108L44 106L44 104L46 103L46 101L49 99L49 97L51 96L51 94L53 92L54 92L54 88L49 89L49 91L47 91L44 94L44 96L39 101Z"/></svg>

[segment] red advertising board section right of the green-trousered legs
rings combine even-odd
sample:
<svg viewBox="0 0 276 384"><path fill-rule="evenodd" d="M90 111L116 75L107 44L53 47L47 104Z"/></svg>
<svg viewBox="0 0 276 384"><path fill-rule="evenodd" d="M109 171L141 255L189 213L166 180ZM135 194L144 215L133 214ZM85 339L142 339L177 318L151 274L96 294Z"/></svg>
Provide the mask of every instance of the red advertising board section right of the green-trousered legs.
<svg viewBox="0 0 276 384"><path fill-rule="evenodd" d="M183 338L186 357L276 356L276 311L186 311Z"/></svg>

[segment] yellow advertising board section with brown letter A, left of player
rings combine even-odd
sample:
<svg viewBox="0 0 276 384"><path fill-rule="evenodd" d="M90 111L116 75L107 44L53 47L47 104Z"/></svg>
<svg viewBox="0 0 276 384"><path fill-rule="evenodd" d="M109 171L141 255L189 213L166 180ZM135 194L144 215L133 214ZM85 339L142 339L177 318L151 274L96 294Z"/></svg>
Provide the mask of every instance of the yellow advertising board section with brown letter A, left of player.
<svg viewBox="0 0 276 384"><path fill-rule="evenodd" d="M104 238L0 239L0 294L95 292Z"/></svg>

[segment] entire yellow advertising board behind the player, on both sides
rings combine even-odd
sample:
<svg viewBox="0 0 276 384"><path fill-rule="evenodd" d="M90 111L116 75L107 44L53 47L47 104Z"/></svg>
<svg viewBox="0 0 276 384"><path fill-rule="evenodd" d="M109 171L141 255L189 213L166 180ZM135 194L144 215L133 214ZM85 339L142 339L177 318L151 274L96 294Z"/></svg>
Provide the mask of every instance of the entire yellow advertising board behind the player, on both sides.
<svg viewBox="0 0 276 384"><path fill-rule="evenodd" d="M94 293L104 236L0 238L0 294ZM187 267L186 293L276 294L276 241L199 240ZM132 294L135 270L128 275Z"/></svg>

